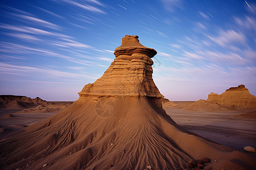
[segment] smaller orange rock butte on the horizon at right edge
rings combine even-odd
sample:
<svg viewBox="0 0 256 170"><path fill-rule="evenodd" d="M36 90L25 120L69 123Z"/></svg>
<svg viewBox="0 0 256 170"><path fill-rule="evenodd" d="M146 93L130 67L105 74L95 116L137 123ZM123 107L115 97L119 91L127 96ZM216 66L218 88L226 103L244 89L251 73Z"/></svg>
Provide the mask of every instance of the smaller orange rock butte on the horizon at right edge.
<svg viewBox="0 0 256 170"><path fill-rule="evenodd" d="M251 95L243 84L238 87L230 87L221 95L213 92L208 95L207 101L217 103L221 107L238 110L256 109L256 97Z"/></svg>

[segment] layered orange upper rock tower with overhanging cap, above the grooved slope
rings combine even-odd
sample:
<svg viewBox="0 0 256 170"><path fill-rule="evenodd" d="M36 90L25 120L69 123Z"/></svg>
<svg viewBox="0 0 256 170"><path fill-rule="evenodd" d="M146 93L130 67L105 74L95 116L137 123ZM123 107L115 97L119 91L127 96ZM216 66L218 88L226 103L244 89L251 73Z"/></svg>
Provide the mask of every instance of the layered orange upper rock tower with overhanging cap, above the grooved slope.
<svg viewBox="0 0 256 170"><path fill-rule="evenodd" d="M126 35L114 54L116 58L104 75L93 84L86 84L80 96L162 97L152 79L155 49L140 44L138 36Z"/></svg>

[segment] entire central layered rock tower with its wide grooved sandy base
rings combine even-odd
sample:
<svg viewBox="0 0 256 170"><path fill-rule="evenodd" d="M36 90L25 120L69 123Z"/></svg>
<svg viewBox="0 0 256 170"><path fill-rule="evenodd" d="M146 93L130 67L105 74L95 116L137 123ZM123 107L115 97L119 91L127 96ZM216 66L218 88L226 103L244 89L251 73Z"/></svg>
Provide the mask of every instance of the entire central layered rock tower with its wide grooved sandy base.
<svg viewBox="0 0 256 170"><path fill-rule="evenodd" d="M109 69L70 107L0 142L2 169L182 169L203 158L212 167L256 167L253 158L180 128L152 80L156 51L138 36L122 40L131 43L115 49Z"/></svg>

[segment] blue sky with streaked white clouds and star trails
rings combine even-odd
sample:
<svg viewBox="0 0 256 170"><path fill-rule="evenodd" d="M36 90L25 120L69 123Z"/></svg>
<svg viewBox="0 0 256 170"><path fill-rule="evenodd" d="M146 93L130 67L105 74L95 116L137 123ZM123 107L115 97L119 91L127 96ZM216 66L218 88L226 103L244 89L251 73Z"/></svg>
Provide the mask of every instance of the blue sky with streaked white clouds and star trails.
<svg viewBox="0 0 256 170"><path fill-rule="evenodd" d="M75 101L125 35L158 54L153 79L171 101L244 84L256 95L256 1L0 2L0 94Z"/></svg>

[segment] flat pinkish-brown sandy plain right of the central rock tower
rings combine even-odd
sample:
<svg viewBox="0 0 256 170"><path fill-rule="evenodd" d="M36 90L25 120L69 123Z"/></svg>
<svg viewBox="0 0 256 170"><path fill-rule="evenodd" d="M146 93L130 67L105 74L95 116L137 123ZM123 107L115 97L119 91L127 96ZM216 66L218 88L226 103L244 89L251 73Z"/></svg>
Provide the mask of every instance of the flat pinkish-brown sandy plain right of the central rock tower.
<svg viewBox="0 0 256 170"><path fill-rule="evenodd" d="M176 101L178 105L184 101ZM166 113L181 127L193 131L234 150L243 151L243 147L256 147L255 119L238 119L244 111L224 110L214 112L188 111L181 107L168 108Z"/></svg>

